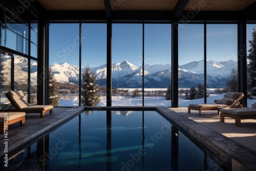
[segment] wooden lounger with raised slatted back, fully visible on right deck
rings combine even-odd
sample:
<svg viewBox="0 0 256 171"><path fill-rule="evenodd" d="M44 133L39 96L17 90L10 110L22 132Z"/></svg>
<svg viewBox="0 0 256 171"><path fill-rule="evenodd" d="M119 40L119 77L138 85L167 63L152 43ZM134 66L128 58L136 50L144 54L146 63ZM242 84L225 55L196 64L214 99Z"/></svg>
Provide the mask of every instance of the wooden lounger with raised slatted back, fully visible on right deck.
<svg viewBox="0 0 256 171"><path fill-rule="evenodd" d="M202 111L218 111L217 115L220 115L220 109L224 108L234 108L238 106L243 108L240 104L240 101L244 98L243 93L238 92L227 92L224 95L224 98L218 100L216 103L204 103L204 104L189 104L188 105L188 114L190 110L199 111L199 116L201 116Z"/></svg>

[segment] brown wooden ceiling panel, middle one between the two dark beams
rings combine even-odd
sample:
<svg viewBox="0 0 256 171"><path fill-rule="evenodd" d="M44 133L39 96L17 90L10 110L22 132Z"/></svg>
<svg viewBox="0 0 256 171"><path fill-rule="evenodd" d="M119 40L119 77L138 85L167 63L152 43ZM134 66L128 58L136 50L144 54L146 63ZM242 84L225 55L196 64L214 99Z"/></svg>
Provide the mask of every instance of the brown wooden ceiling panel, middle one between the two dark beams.
<svg viewBox="0 0 256 171"><path fill-rule="evenodd" d="M111 0L112 10L173 10L178 0Z"/></svg>

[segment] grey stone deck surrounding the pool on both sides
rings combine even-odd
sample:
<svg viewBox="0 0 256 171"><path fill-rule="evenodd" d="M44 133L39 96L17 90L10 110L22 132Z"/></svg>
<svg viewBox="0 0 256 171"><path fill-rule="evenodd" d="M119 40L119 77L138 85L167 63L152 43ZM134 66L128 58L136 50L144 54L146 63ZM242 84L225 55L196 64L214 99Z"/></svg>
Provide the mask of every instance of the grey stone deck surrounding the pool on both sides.
<svg viewBox="0 0 256 171"><path fill-rule="evenodd" d="M123 107L123 106L122 106ZM36 142L40 137L49 134L59 125L77 116L83 111L83 106L74 108L54 108L54 113L27 114L25 126L19 123L9 126L8 152L22 150L29 143ZM94 108L96 109L96 108ZM104 108L100 108L102 110ZM109 109L117 110L119 108ZM127 108L136 110L136 108ZM145 108L146 110L150 110ZM156 107L156 110L166 119L170 120L182 132L185 131L192 140L200 142L205 148L205 153L217 159L220 165L225 165L231 170L256 170L256 120L242 120L242 127L234 125L234 119L225 118L225 123L220 122L216 111L204 111L199 117L198 111L187 113L187 108ZM0 135L0 154L4 153L4 135ZM215 170L215 166L212 166Z"/></svg>

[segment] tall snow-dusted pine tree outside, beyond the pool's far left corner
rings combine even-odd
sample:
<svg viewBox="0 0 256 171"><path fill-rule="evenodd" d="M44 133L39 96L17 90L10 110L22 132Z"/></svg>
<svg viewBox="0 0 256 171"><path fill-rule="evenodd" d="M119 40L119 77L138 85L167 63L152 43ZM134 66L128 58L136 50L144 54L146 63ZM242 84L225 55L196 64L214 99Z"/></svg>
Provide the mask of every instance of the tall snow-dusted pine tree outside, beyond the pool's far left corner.
<svg viewBox="0 0 256 171"><path fill-rule="evenodd" d="M87 64L86 70L82 73L82 98L81 102L83 105L96 106L100 102L99 96L99 82L96 83L96 77L94 73L90 71L89 63Z"/></svg>

